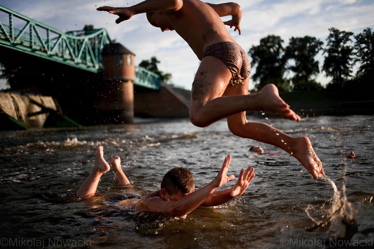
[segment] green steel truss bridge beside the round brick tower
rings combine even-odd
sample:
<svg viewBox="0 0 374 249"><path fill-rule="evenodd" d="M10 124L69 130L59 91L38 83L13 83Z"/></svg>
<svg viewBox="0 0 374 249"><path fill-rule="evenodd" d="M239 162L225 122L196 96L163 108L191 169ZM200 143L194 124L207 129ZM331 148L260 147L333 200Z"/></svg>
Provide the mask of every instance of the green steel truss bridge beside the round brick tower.
<svg viewBox="0 0 374 249"><path fill-rule="evenodd" d="M105 28L64 33L1 5L0 14L0 46L102 73L101 51L112 43ZM135 73L134 84L160 89L159 75L139 66L135 66Z"/></svg>

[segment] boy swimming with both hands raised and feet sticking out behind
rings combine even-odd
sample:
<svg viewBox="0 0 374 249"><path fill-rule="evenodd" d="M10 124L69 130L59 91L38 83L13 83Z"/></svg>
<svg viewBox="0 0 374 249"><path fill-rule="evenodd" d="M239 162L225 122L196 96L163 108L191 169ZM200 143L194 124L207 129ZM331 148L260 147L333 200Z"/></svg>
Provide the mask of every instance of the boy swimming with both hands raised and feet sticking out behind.
<svg viewBox="0 0 374 249"><path fill-rule="evenodd" d="M120 185L130 185L129 180L122 171L120 157L111 156L109 158L116 179ZM132 206L135 209L148 212L163 212L171 216L184 216L192 212L198 206L218 206L235 199L247 189L255 174L254 168L249 166L245 172L240 170L237 182L231 188L217 190L218 187L234 179L234 175L227 176L231 157L228 155L221 167L220 172L213 181L194 191L195 182L192 172L183 167L174 167L165 174L161 182L161 189L147 194L142 199L129 199L119 202L119 204ZM96 192L101 176L108 172L110 166L104 159L103 147L96 150L95 165L91 174L76 193L77 197L86 198Z"/></svg>

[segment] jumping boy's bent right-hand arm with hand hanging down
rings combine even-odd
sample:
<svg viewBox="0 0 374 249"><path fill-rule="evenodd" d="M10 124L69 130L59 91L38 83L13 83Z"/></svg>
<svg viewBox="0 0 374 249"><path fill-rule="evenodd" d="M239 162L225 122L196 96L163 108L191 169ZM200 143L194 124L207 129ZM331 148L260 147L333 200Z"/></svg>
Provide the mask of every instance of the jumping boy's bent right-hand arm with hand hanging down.
<svg viewBox="0 0 374 249"><path fill-rule="evenodd" d="M237 3L206 3L214 9L214 11L220 16L232 16L231 20L223 22L225 25L230 26L230 28L235 27L234 31L240 31L240 20L242 19L242 8Z"/></svg>

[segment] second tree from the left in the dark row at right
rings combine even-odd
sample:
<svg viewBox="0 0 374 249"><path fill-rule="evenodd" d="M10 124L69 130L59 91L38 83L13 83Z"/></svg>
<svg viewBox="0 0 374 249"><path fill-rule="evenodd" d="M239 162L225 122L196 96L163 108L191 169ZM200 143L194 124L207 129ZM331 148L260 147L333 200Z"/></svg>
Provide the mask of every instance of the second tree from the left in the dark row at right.
<svg viewBox="0 0 374 249"><path fill-rule="evenodd" d="M286 60L293 59L295 65L288 67L295 75L292 78L294 90L319 90L321 84L314 79L319 73L319 62L315 56L322 50L324 43L316 37L291 37L286 47Z"/></svg>

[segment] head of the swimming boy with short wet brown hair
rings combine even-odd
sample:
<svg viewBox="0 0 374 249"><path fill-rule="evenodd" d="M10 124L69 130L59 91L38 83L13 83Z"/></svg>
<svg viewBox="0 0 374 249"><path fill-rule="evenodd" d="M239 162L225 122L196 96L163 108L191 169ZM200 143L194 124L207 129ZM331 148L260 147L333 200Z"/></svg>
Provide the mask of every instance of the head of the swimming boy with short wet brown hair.
<svg viewBox="0 0 374 249"><path fill-rule="evenodd" d="M195 190L195 181L191 170L184 167L174 167L162 178L161 188L165 188L169 195L181 193L189 194Z"/></svg>

